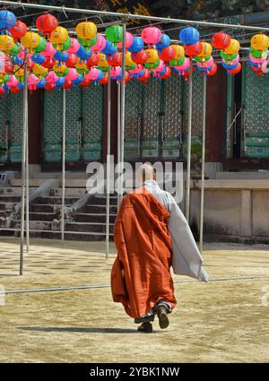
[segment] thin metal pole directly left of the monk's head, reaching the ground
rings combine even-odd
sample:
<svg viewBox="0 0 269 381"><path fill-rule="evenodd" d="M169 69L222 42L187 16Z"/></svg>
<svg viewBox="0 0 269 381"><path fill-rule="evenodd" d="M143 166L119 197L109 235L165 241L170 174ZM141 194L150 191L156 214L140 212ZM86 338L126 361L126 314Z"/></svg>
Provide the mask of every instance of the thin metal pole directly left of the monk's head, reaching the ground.
<svg viewBox="0 0 269 381"><path fill-rule="evenodd" d="M109 192L110 192L110 137L111 137L111 76L108 70L108 130L107 130L107 205L106 205L106 258L109 255Z"/></svg>

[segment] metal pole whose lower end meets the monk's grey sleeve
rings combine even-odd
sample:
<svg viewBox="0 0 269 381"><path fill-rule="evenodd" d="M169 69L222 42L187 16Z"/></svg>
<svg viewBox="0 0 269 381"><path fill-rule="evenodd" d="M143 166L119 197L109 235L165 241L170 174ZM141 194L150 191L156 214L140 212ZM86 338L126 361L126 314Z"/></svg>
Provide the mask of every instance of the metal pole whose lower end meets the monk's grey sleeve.
<svg viewBox="0 0 269 381"><path fill-rule="evenodd" d="M187 184L186 184L186 219L189 222L190 205L190 172L191 172L191 150L192 150L192 108L193 108L193 62L192 57L189 66L188 92L187 92Z"/></svg>

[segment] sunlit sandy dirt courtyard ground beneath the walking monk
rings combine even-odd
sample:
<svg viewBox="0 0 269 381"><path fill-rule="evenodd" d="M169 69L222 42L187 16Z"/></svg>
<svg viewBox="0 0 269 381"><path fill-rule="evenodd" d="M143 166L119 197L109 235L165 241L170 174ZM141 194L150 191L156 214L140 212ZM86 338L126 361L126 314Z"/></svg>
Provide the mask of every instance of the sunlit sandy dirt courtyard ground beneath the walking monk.
<svg viewBox="0 0 269 381"><path fill-rule="evenodd" d="M104 243L0 239L0 289L108 285ZM269 247L207 244L207 284L175 276L169 328L137 333L108 287L0 299L0 362L264 362L269 360ZM237 279L241 277L241 279ZM227 279L232 278L232 279ZM266 295L267 293L267 295ZM2 304L2 306L1 306Z"/></svg>

